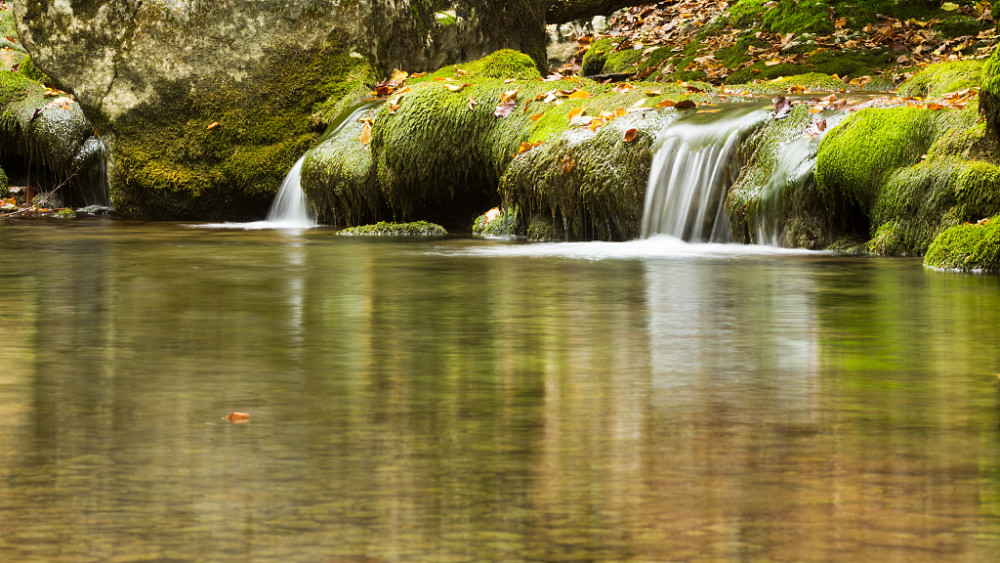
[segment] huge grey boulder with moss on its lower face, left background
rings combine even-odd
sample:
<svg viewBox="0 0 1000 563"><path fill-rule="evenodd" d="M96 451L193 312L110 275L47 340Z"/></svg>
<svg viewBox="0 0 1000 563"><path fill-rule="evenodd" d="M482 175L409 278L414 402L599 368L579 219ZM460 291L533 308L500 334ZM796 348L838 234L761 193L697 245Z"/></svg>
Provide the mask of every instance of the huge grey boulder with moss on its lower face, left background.
<svg viewBox="0 0 1000 563"><path fill-rule="evenodd" d="M148 218L262 215L337 102L394 67L513 47L545 60L534 0L26 0L37 66L110 147L112 200Z"/></svg>

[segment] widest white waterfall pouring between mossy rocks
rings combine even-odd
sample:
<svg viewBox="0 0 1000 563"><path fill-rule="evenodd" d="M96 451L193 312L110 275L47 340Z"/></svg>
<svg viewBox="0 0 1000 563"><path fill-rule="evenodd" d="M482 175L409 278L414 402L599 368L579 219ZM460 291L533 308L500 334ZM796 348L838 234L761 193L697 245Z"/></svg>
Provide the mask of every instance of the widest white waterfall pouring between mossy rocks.
<svg viewBox="0 0 1000 563"><path fill-rule="evenodd" d="M768 119L761 105L713 107L684 115L656 139L642 236L729 242L726 192L739 174L740 139Z"/></svg>

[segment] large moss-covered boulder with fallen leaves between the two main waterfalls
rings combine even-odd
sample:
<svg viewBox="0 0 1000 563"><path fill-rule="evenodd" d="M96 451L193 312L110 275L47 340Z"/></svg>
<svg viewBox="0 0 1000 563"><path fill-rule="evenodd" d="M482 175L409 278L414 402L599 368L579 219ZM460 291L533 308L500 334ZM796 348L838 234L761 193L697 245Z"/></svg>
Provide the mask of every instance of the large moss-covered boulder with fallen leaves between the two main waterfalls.
<svg viewBox="0 0 1000 563"><path fill-rule="evenodd" d="M718 98L679 84L548 82L527 61L502 51L446 67L410 83L398 107L372 109L369 121L321 143L302 172L321 220L419 218L468 229L499 206L518 210L518 235L637 236L652 142L678 111L657 103ZM501 62L514 76L477 70ZM514 102L506 117L503 98Z"/></svg>

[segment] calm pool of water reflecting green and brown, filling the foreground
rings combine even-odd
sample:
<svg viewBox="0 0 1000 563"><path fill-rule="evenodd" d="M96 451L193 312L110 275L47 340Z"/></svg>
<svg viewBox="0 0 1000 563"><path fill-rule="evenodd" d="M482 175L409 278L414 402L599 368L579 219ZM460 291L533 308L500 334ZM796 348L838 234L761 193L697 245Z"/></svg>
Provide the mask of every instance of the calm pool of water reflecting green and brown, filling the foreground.
<svg viewBox="0 0 1000 563"><path fill-rule="evenodd" d="M4 224L0 560L994 556L997 278L661 243Z"/></svg>

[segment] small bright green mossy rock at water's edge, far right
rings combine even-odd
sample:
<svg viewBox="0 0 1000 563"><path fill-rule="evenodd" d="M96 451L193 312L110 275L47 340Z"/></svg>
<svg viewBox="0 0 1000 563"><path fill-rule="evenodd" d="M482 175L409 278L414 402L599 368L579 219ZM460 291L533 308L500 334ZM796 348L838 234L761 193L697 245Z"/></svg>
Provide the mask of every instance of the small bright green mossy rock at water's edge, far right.
<svg viewBox="0 0 1000 563"><path fill-rule="evenodd" d="M986 224L956 225L934 239L924 265L942 270L1000 271L1000 215Z"/></svg>

